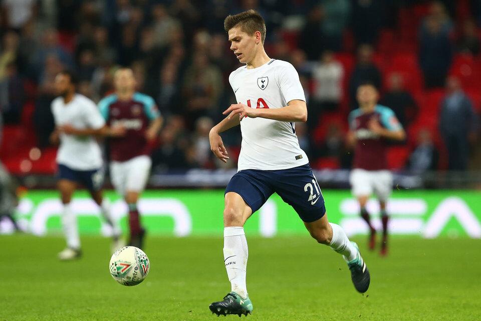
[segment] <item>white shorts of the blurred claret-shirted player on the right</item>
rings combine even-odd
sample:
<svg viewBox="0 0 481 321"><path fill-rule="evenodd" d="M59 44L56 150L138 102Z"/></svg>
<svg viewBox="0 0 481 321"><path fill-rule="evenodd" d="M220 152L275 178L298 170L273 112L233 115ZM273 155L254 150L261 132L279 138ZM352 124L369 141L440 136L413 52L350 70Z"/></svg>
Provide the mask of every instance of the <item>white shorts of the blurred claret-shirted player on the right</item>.
<svg viewBox="0 0 481 321"><path fill-rule="evenodd" d="M380 201L387 201L392 191L392 173L387 170L366 171L354 169L349 182L355 197L371 196L373 193Z"/></svg>

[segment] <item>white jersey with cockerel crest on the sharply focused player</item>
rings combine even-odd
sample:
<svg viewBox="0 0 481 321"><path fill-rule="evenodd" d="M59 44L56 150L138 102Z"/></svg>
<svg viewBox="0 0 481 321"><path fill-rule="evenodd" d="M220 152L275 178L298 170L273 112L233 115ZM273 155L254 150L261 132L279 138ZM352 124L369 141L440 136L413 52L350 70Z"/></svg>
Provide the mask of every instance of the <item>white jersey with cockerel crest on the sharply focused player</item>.
<svg viewBox="0 0 481 321"><path fill-rule="evenodd" d="M281 108L291 100L306 101L293 65L272 59L254 69L246 66L229 76L237 103L252 108ZM237 170L286 170L309 163L295 134L295 123L246 117L240 122L242 145Z"/></svg>

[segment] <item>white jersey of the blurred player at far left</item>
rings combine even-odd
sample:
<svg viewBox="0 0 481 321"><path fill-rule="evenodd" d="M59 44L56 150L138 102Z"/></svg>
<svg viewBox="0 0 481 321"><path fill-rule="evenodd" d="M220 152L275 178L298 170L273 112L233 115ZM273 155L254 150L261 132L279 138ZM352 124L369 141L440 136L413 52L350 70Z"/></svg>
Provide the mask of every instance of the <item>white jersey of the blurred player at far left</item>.
<svg viewBox="0 0 481 321"><path fill-rule="evenodd" d="M80 94L75 94L68 104L65 104L63 97L55 98L52 101L52 113L57 126L69 124L77 129L98 129L105 125L95 103ZM92 135L61 134L57 163L77 171L99 169L103 163L102 151Z"/></svg>

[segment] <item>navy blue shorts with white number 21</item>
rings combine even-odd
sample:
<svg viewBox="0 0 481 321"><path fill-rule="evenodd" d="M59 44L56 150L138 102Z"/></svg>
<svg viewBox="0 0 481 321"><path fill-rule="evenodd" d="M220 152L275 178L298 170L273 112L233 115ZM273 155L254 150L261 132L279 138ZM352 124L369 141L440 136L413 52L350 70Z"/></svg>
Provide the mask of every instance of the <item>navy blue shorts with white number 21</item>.
<svg viewBox="0 0 481 321"><path fill-rule="evenodd" d="M225 193L239 194L256 212L276 192L291 205L304 222L324 216L326 207L321 189L309 164L288 170L243 170L230 179Z"/></svg>

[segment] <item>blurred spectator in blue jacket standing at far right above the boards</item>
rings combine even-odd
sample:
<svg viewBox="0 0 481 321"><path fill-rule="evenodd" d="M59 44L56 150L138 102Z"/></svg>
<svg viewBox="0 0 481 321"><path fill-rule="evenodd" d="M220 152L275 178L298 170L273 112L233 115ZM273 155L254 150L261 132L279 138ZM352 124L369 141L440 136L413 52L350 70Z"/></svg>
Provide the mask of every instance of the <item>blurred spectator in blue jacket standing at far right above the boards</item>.
<svg viewBox="0 0 481 321"><path fill-rule="evenodd" d="M439 131L447 148L448 169L467 170L469 143L477 138L479 119L463 93L459 79L455 77L448 77L446 80L446 96L441 103Z"/></svg>

